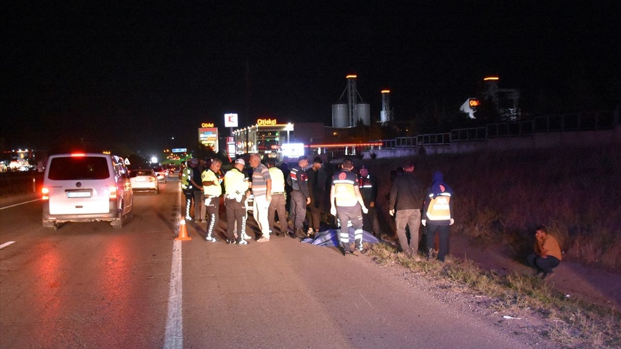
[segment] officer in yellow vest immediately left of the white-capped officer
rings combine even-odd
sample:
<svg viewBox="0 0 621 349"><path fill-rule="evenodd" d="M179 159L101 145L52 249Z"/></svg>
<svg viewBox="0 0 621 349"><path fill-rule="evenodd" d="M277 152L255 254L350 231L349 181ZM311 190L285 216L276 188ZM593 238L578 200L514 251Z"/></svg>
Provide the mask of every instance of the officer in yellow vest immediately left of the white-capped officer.
<svg viewBox="0 0 621 349"><path fill-rule="evenodd" d="M218 227L218 216L220 210L220 195L222 195L222 178L217 173L222 166L222 160L214 158L209 168L201 174L202 188L205 196L205 206L207 209L207 242L217 243L215 229Z"/></svg>

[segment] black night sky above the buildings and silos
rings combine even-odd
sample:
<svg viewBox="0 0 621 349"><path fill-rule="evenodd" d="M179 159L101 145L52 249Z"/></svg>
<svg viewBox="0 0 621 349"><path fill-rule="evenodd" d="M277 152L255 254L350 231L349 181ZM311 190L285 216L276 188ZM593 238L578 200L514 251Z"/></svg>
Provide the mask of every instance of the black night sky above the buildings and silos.
<svg viewBox="0 0 621 349"><path fill-rule="evenodd" d="M14 2L2 24L0 145L83 137L144 152L186 147L201 122L224 126L225 112L242 125L329 125L348 73L371 120L381 89L406 120L434 106L456 111L491 74L520 89L530 115L621 104L612 7L287 3Z"/></svg>

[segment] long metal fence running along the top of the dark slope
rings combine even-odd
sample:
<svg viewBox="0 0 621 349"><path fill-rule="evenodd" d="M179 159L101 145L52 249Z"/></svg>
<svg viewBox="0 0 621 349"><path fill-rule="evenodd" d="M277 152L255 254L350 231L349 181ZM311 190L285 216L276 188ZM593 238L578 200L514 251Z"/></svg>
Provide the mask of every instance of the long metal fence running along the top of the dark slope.
<svg viewBox="0 0 621 349"><path fill-rule="evenodd" d="M443 145L451 142L486 140L496 137L530 136L539 132L610 130L614 129L615 125L621 125L618 109L614 111L540 116L532 120L489 124L486 127L454 129L448 134L425 134L417 135L416 137L377 140L373 142L381 143L381 146L368 147L366 150Z"/></svg>

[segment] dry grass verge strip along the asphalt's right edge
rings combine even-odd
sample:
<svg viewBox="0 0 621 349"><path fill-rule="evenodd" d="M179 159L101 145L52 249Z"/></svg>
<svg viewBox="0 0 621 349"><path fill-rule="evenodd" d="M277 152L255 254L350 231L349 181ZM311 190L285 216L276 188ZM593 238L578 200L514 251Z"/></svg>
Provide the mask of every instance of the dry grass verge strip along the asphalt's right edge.
<svg viewBox="0 0 621 349"><path fill-rule="evenodd" d="M499 275L481 270L471 261L449 259L415 261L393 247L376 243L367 252L380 265L401 265L423 274L442 289L474 292L490 297L487 307L498 312L535 312L545 325L538 335L574 348L619 348L621 317L612 309L594 306L554 291L538 278ZM438 281L442 280L442 281Z"/></svg>

